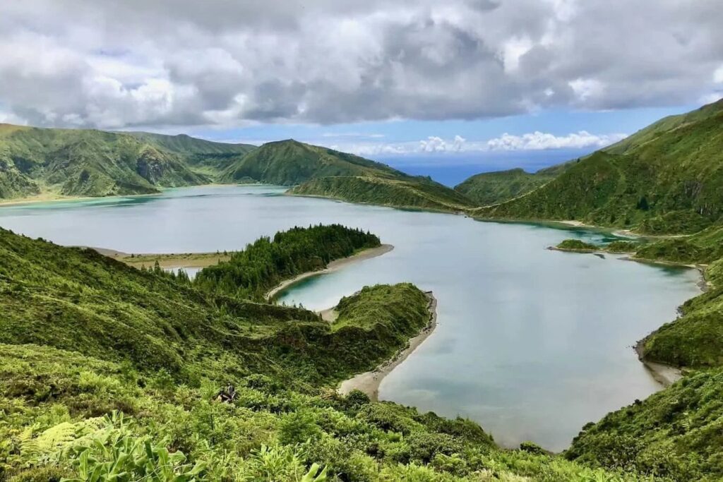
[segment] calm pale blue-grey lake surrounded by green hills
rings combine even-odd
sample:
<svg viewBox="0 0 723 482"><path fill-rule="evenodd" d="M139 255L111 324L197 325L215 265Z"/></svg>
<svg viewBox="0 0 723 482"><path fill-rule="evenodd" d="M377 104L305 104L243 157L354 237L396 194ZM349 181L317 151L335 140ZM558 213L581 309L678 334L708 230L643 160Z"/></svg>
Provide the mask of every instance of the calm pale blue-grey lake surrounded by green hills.
<svg viewBox="0 0 723 482"><path fill-rule="evenodd" d="M0 225L59 244L131 253L241 249L294 225L369 229L395 249L281 296L333 306L364 285L411 281L439 301L437 330L380 398L482 423L497 442L559 450L581 426L660 387L630 345L675 319L698 273L545 248L593 231L287 197L282 188L174 189L160 196L0 208Z"/></svg>

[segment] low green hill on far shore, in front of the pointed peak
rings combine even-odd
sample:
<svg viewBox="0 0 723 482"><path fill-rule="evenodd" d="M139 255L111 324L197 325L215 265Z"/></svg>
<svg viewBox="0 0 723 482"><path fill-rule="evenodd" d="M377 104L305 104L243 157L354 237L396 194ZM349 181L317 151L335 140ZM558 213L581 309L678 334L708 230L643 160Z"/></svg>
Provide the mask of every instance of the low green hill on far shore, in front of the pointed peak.
<svg viewBox="0 0 723 482"><path fill-rule="evenodd" d="M315 178L296 186L289 194L329 197L347 202L459 212L474 207L463 194L429 178L380 176L333 176Z"/></svg>

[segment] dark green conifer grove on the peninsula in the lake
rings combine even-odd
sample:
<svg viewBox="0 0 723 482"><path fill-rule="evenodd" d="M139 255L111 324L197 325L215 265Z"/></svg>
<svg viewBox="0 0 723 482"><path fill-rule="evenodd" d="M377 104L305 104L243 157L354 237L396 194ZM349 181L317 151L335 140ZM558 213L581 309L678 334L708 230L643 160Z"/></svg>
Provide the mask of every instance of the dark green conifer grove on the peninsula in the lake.
<svg viewBox="0 0 723 482"><path fill-rule="evenodd" d="M259 238L232 254L227 262L204 268L194 285L213 293L263 301L282 280L322 270L335 259L380 244L371 233L338 224L291 228L276 233L273 239Z"/></svg>

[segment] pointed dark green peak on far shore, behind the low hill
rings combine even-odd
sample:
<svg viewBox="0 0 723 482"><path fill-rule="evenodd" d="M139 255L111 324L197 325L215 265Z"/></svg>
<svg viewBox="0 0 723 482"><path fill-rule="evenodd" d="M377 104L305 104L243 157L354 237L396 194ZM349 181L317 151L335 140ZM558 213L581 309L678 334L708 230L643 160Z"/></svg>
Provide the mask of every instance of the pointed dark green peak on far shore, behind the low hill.
<svg viewBox="0 0 723 482"><path fill-rule="evenodd" d="M265 184L294 186L325 176L409 177L373 160L288 139L268 142L236 160L223 171L221 181L250 178Z"/></svg>

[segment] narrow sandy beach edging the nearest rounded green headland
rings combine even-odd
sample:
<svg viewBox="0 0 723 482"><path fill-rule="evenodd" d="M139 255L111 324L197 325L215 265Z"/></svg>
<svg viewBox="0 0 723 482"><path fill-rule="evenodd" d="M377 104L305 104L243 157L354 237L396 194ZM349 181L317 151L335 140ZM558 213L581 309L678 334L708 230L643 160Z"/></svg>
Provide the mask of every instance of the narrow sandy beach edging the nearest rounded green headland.
<svg viewBox="0 0 723 482"><path fill-rule="evenodd" d="M422 328L419 334L411 337L407 347L398 352L390 360L385 361L372 371L365 371L362 374L358 374L341 382L337 390L341 395L346 395L348 392L351 392L351 390L361 390L361 392L366 393L371 400L377 401L379 399L379 385L382 383L382 379L390 374L400 363L405 361L419 345L424 343L424 340L427 340L429 335L432 335L432 332L434 332L437 327L437 298L432 294L432 291L427 291L424 294L429 298L429 305L427 306L429 310L429 324Z"/></svg>

